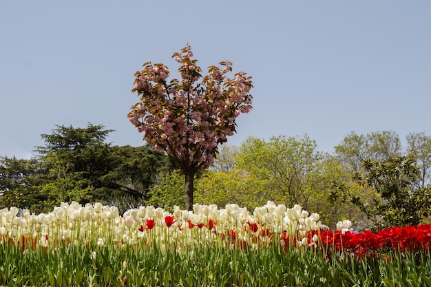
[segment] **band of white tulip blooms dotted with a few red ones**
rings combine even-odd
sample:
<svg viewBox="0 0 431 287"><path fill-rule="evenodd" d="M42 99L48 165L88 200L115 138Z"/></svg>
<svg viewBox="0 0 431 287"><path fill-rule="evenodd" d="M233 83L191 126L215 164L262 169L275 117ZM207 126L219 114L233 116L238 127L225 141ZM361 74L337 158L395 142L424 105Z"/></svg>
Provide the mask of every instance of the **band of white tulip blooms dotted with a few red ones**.
<svg viewBox="0 0 431 287"><path fill-rule="evenodd" d="M20 214L19 214L20 213ZM3 242L30 246L48 247L59 242L97 242L105 246L115 244L215 244L222 238L226 242L259 244L273 242L273 235L288 233L297 241L304 242L308 232L319 229L319 215L311 215L295 205L287 209L284 205L268 202L251 214L236 204L224 209L215 205L195 204L193 211L174 208L169 213L154 206L118 214L115 206L100 203L62 203L50 213L39 215L17 208L0 211L0 236ZM259 231L259 232L257 232ZM264 235L264 236L262 236Z"/></svg>

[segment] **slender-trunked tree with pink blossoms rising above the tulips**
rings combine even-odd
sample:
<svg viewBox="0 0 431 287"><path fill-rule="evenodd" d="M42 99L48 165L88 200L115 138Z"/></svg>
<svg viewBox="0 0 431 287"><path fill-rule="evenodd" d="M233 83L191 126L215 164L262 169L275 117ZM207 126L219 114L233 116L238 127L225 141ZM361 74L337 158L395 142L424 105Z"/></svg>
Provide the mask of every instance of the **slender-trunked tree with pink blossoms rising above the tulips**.
<svg viewBox="0 0 431 287"><path fill-rule="evenodd" d="M134 89L139 102L127 115L143 139L158 151L165 151L185 175L185 206L193 206L193 180L207 169L218 154L218 145L235 133L236 118L251 109L251 77L238 72L229 78L232 63L210 66L202 76L192 59L191 47L172 56L180 67L180 79L169 77L162 63L143 65L135 73Z"/></svg>

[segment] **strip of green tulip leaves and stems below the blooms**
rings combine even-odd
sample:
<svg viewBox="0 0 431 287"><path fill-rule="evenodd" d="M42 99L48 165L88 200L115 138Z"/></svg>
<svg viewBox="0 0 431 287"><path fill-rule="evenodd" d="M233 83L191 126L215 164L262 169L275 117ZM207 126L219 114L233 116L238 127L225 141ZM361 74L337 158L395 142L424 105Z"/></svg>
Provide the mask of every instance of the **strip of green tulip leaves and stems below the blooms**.
<svg viewBox="0 0 431 287"><path fill-rule="evenodd" d="M271 246L0 248L1 286L431 286L429 253L376 258Z"/></svg>

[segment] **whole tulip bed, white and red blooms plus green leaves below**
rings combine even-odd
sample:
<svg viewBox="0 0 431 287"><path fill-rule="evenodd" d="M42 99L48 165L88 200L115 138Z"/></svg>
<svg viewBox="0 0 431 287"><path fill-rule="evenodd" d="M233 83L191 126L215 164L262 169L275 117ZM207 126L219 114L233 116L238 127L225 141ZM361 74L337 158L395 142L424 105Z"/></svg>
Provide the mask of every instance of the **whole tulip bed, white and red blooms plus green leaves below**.
<svg viewBox="0 0 431 287"><path fill-rule="evenodd" d="M21 213L0 211L7 286L431 286L430 225L320 231L316 213L273 202L253 213L195 204L119 215L76 202Z"/></svg>

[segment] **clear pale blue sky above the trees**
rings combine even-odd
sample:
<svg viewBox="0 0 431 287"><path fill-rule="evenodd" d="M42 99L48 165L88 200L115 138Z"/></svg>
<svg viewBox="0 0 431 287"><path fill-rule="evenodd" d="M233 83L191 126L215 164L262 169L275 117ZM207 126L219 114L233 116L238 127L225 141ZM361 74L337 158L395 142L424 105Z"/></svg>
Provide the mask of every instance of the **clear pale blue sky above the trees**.
<svg viewBox="0 0 431 287"><path fill-rule="evenodd" d="M351 131L430 134L431 1L0 0L0 156L28 158L55 125L115 129L129 120L134 72L189 43L202 68L253 77L247 136L308 136L318 149Z"/></svg>

